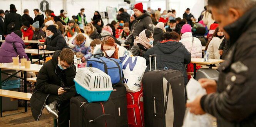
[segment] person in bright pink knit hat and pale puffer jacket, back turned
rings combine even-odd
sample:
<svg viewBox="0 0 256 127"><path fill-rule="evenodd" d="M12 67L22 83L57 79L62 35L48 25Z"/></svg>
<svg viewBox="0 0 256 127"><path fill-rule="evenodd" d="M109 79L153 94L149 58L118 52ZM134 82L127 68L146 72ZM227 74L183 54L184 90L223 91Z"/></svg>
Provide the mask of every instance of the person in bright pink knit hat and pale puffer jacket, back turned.
<svg viewBox="0 0 256 127"><path fill-rule="evenodd" d="M201 41L192 36L191 26L189 24L184 24L181 29L181 40L180 42L186 47L186 49L191 53L191 58L202 58L202 44ZM201 68L201 66L197 66ZM187 65L187 72L194 72L193 63ZM188 80L190 80L191 75L187 75Z"/></svg>

